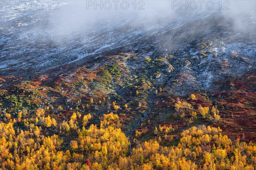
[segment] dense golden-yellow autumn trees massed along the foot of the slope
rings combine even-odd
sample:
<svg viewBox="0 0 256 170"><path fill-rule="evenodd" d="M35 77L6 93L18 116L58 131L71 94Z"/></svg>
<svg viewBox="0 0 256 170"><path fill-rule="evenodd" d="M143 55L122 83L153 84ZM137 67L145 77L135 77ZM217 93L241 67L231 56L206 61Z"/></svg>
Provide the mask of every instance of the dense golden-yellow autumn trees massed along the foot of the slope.
<svg viewBox="0 0 256 170"><path fill-rule="evenodd" d="M154 140L134 140L131 145L120 129L118 115L113 113L104 114L100 126L91 124L90 127L81 124L87 124L91 114L79 122L75 113L69 122L59 122L59 128L47 128L47 133L46 127L58 126L56 120L50 116L44 118L42 109L36 116L42 117L44 124L39 124L42 126L35 124L36 118L25 116L20 128L16 128L20 123L14 123L14 119L12 122L11 118L9 122L0 122L0 169L253 170L256 164L256 144L239 139L232 142L221 134L219 127L190 127L180 134L177 145L161 146L166 140L174 140L173 135L167 135L174 129L172 125L159 125L155 127ZM75 127L75 121L77 128L70 129ZM50 134L52 129L55 131ZM135 131L135 136L141 135L142 132Z"/></svg>

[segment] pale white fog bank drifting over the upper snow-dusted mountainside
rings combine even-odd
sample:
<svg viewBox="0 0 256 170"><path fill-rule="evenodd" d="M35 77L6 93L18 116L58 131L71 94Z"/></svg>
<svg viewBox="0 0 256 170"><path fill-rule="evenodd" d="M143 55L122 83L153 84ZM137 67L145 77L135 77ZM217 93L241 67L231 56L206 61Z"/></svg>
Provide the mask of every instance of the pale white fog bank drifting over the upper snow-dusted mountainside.
<svg viewBox="0 0 256 170"><path fill-rule="evenodd" d="M65 4L63 3L65 2ZM107 3L106 3L107 2ZM244 21L254 21L255 1L59 1L59 10L49 18L47 29L56 34L90 34L126 26L146 30L168 27L207 15L223 14L233 26L246 30ZM62 4L63 3L63 4ZM47 11L49 12L49 11ZM51 12L51 11L50 11ZM254 16L254 18L252 18ZM223 20L226 22L227 20ZM220 20L219 22L223 22ZM207 21L210 24L210 21ZM224 23L225 24L225 23ZM251 31L251 30L250 30ZM126 30L123 30L124 34Z"/></svg>

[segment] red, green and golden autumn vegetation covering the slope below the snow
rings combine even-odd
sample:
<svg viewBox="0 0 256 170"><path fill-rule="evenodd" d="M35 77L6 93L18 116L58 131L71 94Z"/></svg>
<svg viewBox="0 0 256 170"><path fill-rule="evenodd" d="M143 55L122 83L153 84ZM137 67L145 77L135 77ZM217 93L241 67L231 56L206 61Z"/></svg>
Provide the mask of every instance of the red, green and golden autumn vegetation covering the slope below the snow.
<svg viewBox="0 0 256 170"><path fill-rule="evenodd" d="M191 75L175 73L171 54L120 55L62 76L0 77L15 82L0 89L0 169L255 170L253 74L178 95Z"/></svg>

